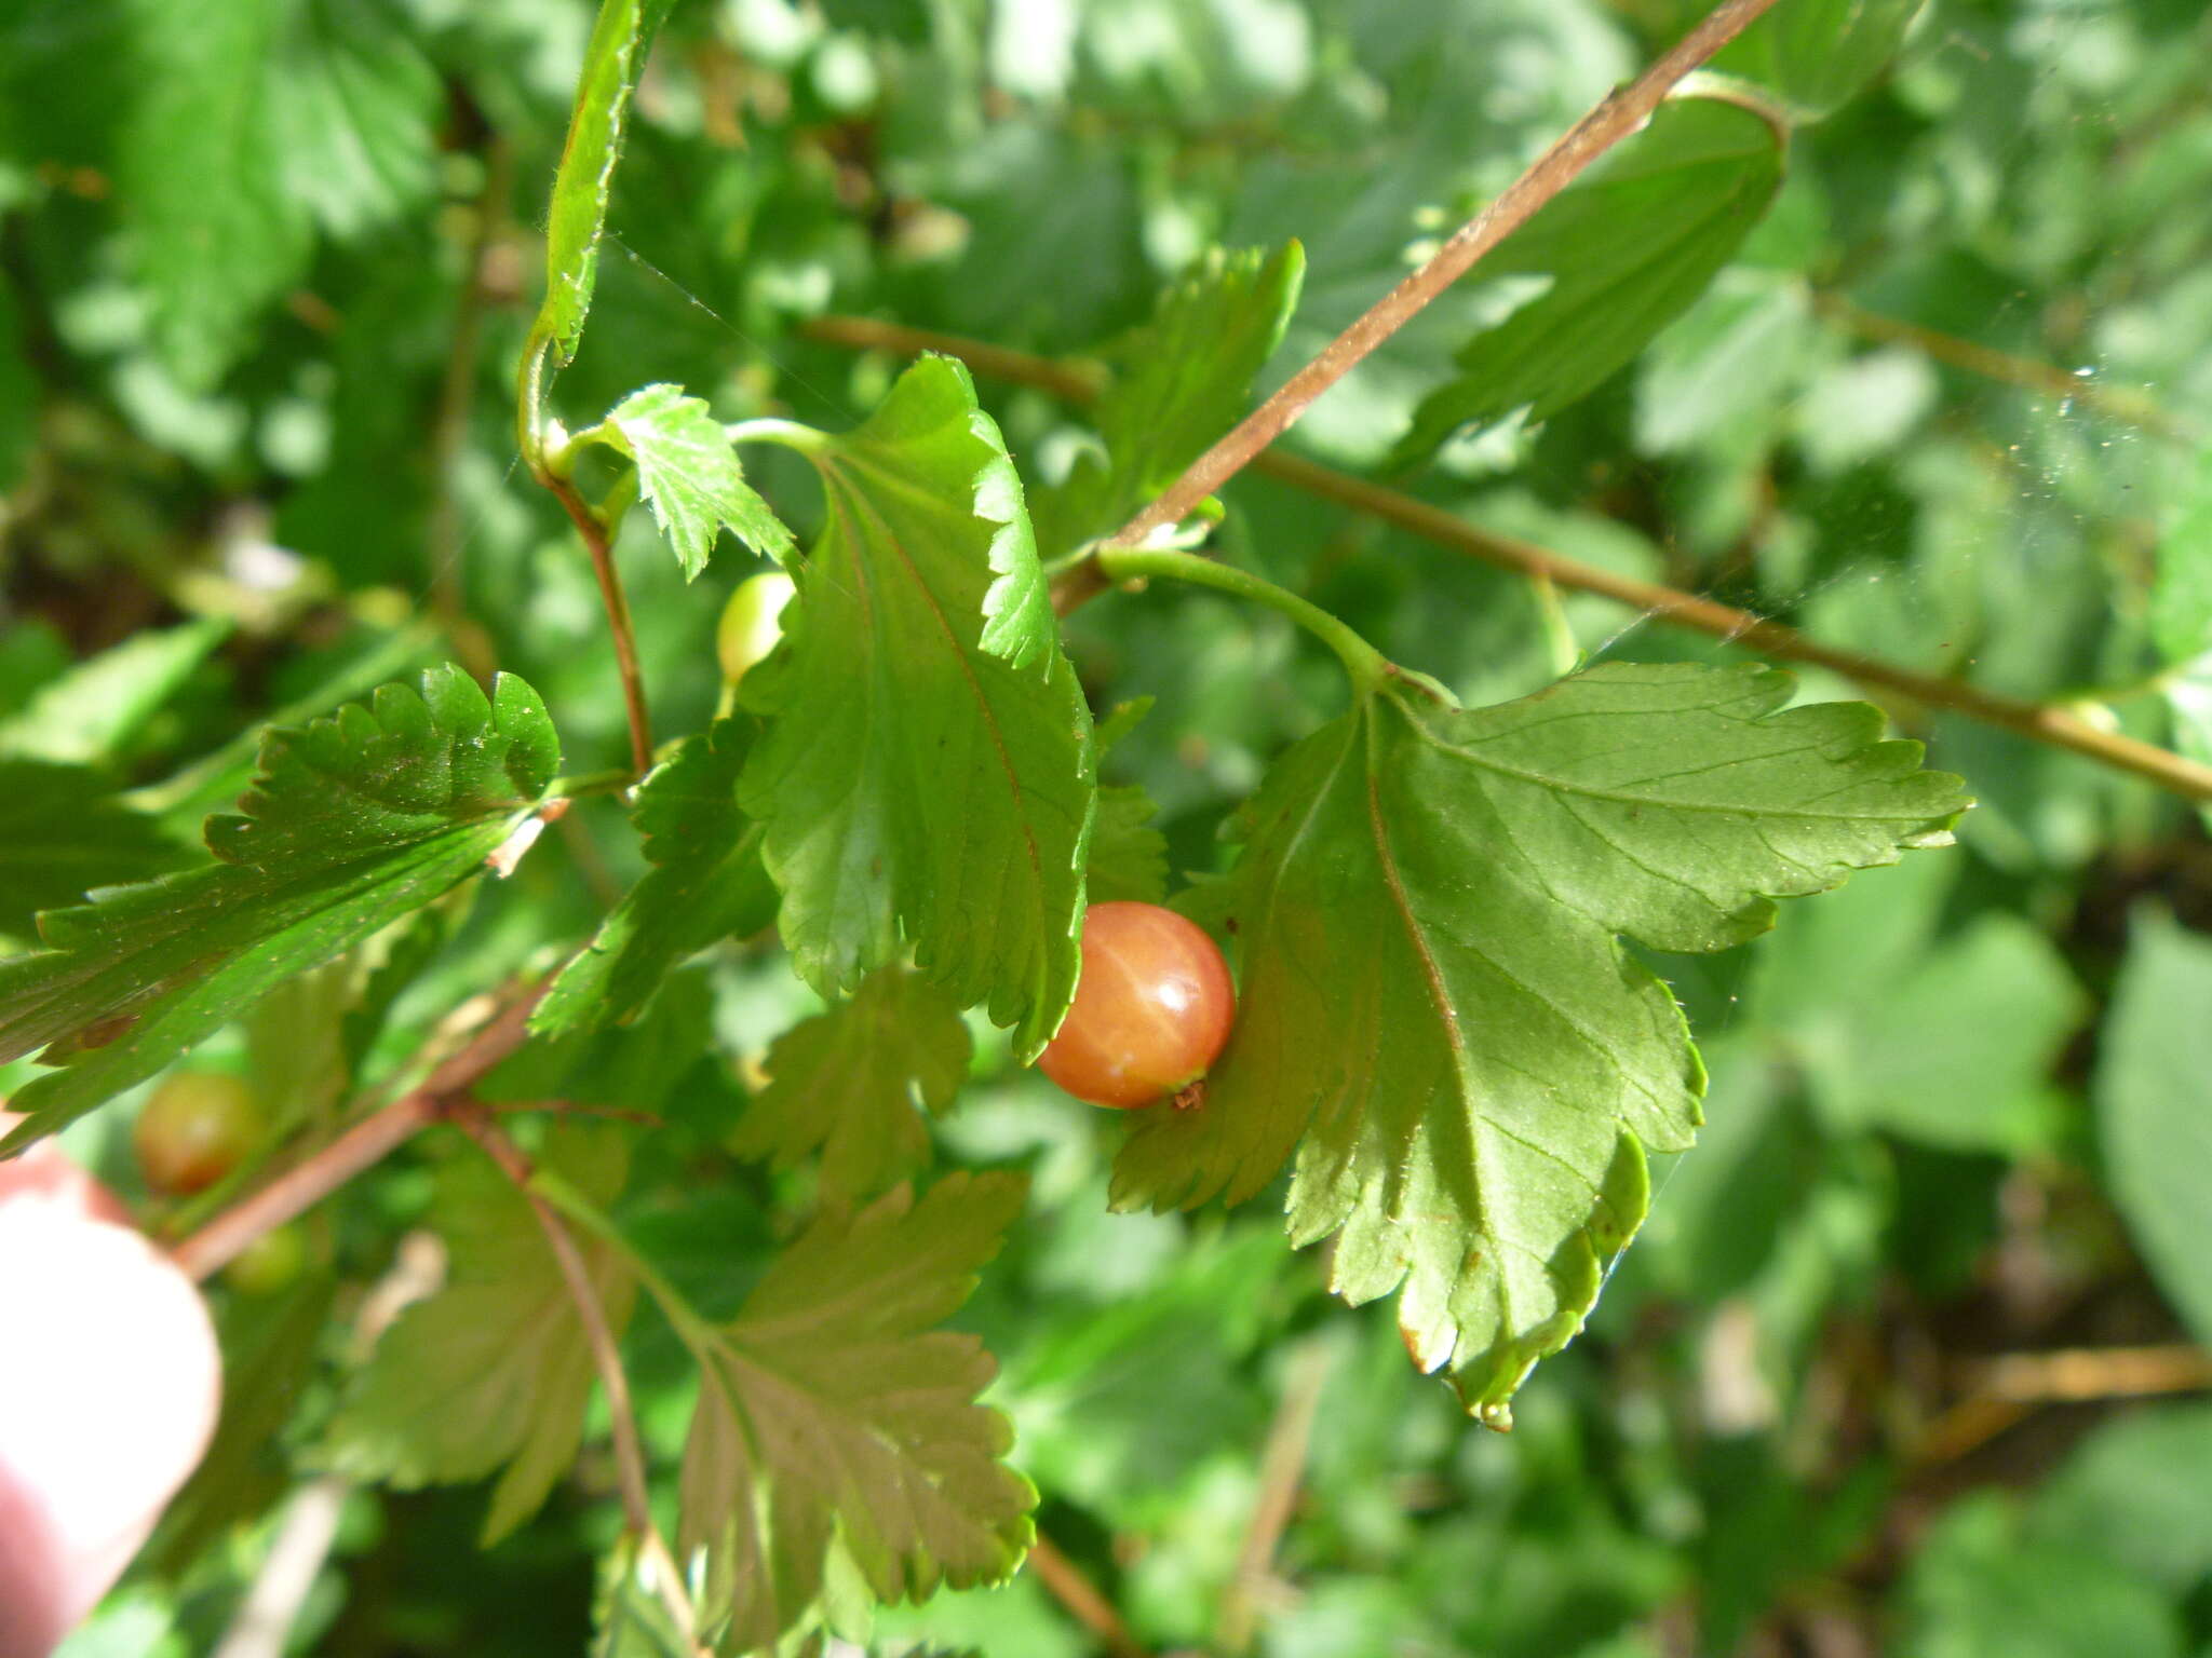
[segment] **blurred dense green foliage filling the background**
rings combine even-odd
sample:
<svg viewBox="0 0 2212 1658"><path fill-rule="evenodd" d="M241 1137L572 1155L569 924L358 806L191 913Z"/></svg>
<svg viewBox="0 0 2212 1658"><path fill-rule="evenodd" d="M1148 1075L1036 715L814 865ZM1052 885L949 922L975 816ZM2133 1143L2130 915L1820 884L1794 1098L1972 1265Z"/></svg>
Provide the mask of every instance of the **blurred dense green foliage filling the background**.
<svg viewBox="0 0 2212 1658"><path fill-rule="evenodd" d="M838 429L898 365L801 336L812 314L1086 351L1210 243L1298 237L1310 274L1281 378L1688 15L1672 0L684 0L639 91L560 409L584 422L666 378L728 418ZM354 663L374 683L451 654L403 632L418 615L471 665L544 692L568 772L624 758L588 566L513 464L535 225L588 22L566 0L9 9L0 765L166 778L294 699L358 692L334 690ZM1796 130L1774 210L1635 367L1402 482L1827 643L2088 703L2205 754L2208 64L2194 0L1936 0L1865 95ZM1498 307L1495 287L1449 296L1294 444L1380 466ZM1940 340L1871 338L1851 307L2077 371L2084 396L1971 374ZM1075 416L980 385L1033 475L1071 464ZM816 520L796 462L757 482L790 522ZM723 542L686 588L633 520L622 557L657 721L697 730L714 615L757 562ZM1564 665L1524 581L1281 484L1232 489L1223 544L1469 701ZM159 696L93 730L35 718L66 663L199 619L215 626L150 646L175 659ZM1590 659L1732 657L1575 595L1564 626ZM1093 707L1159 699L1108 780L1161 802L1177 869L1217 862L1221 816L1343 699L1310 641L1214 595L1104 599L1071 650ZM1659 1169L1644 1238L1590 1331L1522 1393L1511 1437L1409 1371L1387 1304L1327 1302L1270 1200L1108 1216L1119 1125L982 1043L940 1158L1026 1165L1033 1196L964 1322L1004 1362L995 1397L1042 1530L1146 1649L2212 1654L2212 1408L2124 1402L2110 1366L2081 1402L2013 1408L1982 1368L2212 1340L2212 844L2143 783L1896 712L1980 796L1962 849L1794 906L1761 944L1661 964L1705 1043L1710 1127ZM571 822L453 915L398 1050L458 995L573 942L635 873L613 807ZM29 911L60 898L0 849L0 933L27 937ZM730 953L664 997L653 1041L703 1054L712 1030L759 1054L807 1006L779 962ZM803 1192L719 1150L737 1070L624 1063L591 1072L608 1103L666 1096L675 1119L624 1218L726 1311ZM586 1083L566 1079L580 1099ZM126 1116L75 1136L122 1183L111 1119ZM316 1293L380 1271L438 1156L365 1183L314 1231ZM312 1357L312 1335L285 1333L292 1302L221 1295L234 1386L248 1351ZM323 1344L272 1388L268 1428L290 1424L301 1466L343 1371L343 1340ZM635 1346L648 1439L672 1463L690 1377L650 1329ZM1298 1475L1301 1444L1298 1501L1254 1567L1254 1514ZM248 1450L261 1463L230 1494L254 1508L288 1475ZM489 1554L471 1545L480 1490L358 1492L299 1649L577 1649L591 1556L617 1523L606 1492L588 1455ZM71 1654L204 1649L268 1541L221 1519L173 1532ZM993 1656L1099 1649L1035 1572L885 1629Z"/></svg>

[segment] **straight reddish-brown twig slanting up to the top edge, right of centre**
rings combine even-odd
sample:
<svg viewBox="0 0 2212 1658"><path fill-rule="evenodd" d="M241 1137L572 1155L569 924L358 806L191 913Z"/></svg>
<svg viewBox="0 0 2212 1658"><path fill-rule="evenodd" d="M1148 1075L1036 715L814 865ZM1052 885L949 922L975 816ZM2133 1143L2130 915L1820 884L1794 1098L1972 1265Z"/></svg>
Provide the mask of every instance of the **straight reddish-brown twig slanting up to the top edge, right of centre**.
<svg viewBox="0 0 2212 1658"><path fill-rule="evenodd" d="M1161 524L1179 524L1199 502L1243 471L1252 458L1281 438L1298 416L1336 385L1360 358L1405 327L1429 301L1451 287L1491 248L1520 230L1537 210L1571 186L1606 150L1635 133L1659 108L1683 75L1743 33L1774 0L1723 0L1672 51L1628 86L1606 93L1557 144L1540 155L1504 195L1451 232L1429 261L1378 298L1321 354L1298 369L1259 409L1239 420L1221 442L1199 455L1159 500L1137 513L1113 537L1135 546Z"/></svg>

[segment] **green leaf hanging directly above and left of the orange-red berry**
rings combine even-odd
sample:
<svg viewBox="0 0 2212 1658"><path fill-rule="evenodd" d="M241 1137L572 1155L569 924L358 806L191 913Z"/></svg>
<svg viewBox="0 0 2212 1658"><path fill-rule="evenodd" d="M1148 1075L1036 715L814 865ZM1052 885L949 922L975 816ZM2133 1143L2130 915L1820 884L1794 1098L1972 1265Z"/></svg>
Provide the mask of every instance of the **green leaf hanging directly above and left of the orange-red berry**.
<svg viewBox="0 0 2212 1658"><path fill-rule="evenodd" d="M927 356L814 451L827 524L739 785L801 977L852 990L911 942L1035 1054L1075 995L1091 716L1060 650L1022 484L960 363Z"/></svg>

